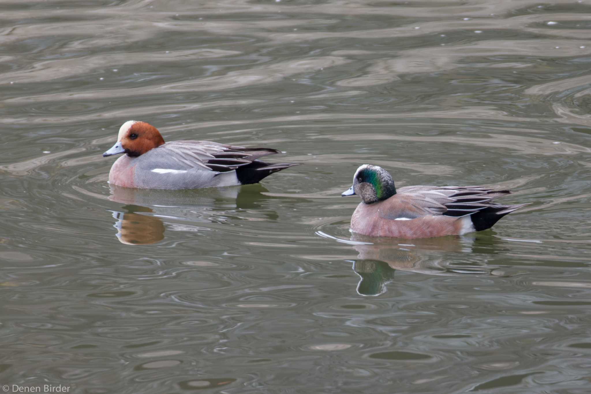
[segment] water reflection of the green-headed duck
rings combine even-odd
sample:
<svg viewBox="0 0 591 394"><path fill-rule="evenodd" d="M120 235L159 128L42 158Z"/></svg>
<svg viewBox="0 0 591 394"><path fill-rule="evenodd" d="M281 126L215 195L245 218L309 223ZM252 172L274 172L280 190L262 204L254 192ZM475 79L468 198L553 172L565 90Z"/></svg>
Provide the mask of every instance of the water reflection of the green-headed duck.
<svg viewBox="0 0 591 394"><path fill-rule="evenodd" d="M483 241L486 237L483 237ZM488 240L493 241L494 237ZM473 237L447 236L413 240L379 239L353 235L356 243L353 248L359 253L353 262L353 271L359 275L357 292L360 295L380 295L387 291L387 284L394 280L397 270L426 273L428 275L490 275L495 268L462 266L453 268L449 265L453 253L472 253L481 243ZM484 241L486 243L486 241ZM493 241L494 242L494 241ZM484 246L480 245L480 246Z"/></svg>

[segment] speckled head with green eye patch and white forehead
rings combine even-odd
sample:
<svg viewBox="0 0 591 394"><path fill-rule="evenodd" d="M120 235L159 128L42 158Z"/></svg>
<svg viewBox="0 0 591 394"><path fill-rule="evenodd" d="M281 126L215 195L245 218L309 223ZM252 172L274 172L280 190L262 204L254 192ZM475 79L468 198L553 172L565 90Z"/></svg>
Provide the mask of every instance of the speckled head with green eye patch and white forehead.
<svg viewBox="0 0 591 394"><path fill-rule="evenodd" d="M396 194L394 180L388 171L382 167L371 164L363 164L355 172L353 185L341 196L361 197L361 201L366 204L386 200Z"/></svg>

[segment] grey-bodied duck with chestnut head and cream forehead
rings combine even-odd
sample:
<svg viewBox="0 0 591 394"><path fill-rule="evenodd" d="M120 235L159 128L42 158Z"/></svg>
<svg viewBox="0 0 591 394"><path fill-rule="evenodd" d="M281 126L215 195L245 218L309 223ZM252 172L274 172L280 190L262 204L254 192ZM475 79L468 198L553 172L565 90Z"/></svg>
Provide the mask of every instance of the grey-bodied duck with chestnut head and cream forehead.
<svg viewBox="0 0 591 394"><path fill-rule="evenodd" d="M127 121L117 142L103 157L124 154L109 172L109 183L144 189L196 189L258 183L297 163L259 160L280 153L271 148L244 148L210 141L164 139L146 122Z"/></svg>

